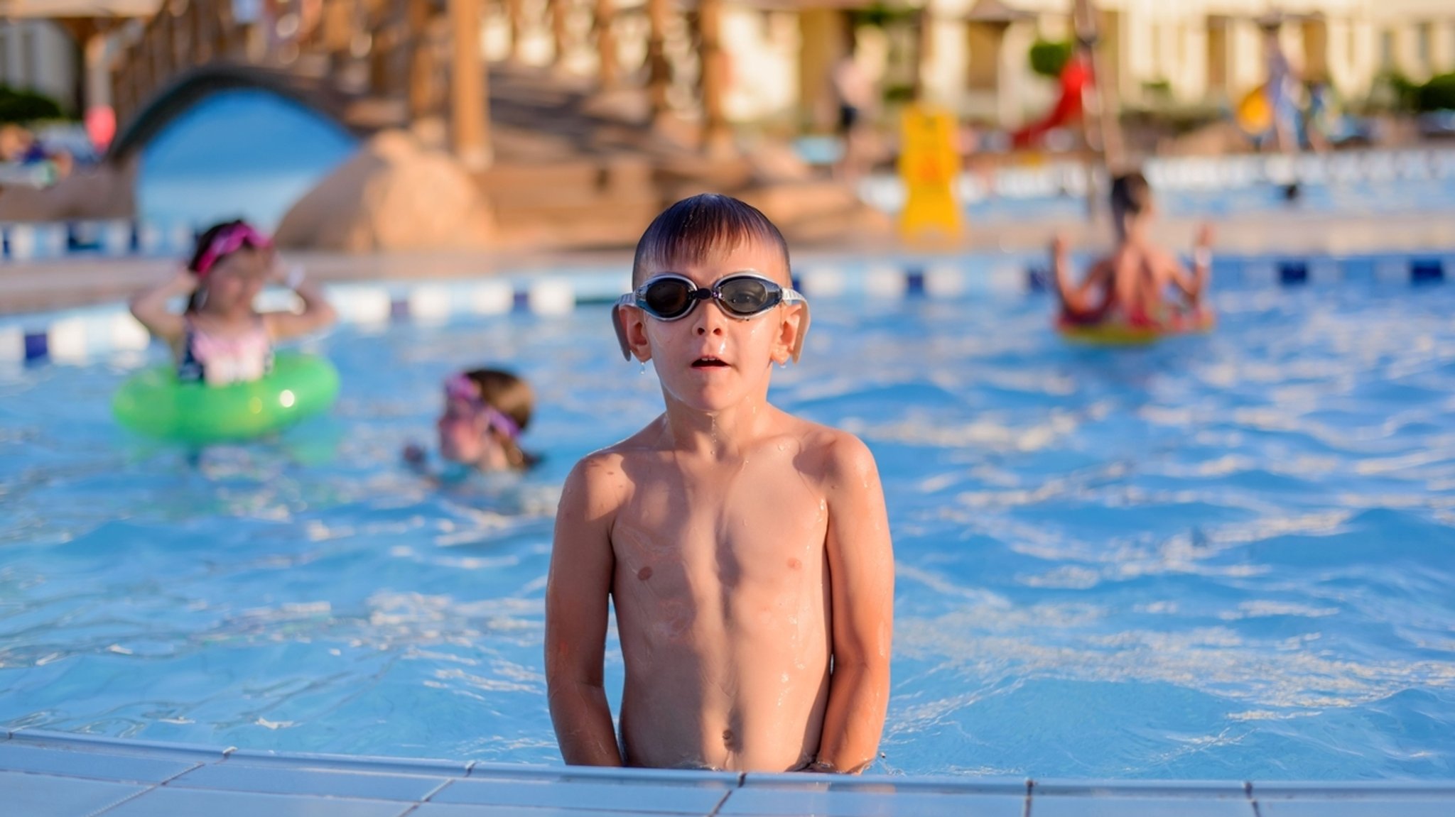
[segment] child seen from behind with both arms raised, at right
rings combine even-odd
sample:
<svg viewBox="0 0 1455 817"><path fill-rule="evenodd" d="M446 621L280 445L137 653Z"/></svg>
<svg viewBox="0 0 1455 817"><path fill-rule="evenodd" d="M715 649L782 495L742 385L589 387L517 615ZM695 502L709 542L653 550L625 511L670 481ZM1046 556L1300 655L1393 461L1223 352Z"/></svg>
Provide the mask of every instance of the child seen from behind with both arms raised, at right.
<svg viewBox="0 0 1455 817"><path fill-rule="evenodd" d="M1186 298L1184 313L1200 308L1212 266L1212 227L1203 224L1193 249L1193 273L1151 240L1152 188L1136 172L1112 180L1112 225L1116 247L1112 254L1091 265L1081 283L1071 282L1067 241L1052 241L1052 267L1061 297L1061 320L1069 324L1096 324L1119 320L1135 327L1171 327L1183 315L1163 299L1167 286Z"/></svg>

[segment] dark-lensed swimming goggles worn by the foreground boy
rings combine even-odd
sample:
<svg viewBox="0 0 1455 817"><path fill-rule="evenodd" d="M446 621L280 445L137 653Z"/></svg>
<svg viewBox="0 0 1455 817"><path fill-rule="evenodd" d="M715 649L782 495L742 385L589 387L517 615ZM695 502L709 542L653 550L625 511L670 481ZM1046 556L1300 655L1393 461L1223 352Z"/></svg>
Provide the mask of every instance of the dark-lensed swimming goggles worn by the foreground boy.
<svg viewBox="0 0 1455 817"><path fill-rule="evenodd" d="M735 272L719 278L711 286L698 286L693 279L675 272L650 278L642 286L618 298L611 310L621 355L631 359L626 324L621 321L621 307L636 307L656 320L675 321L690 315L701 301L716 301L723 314L739 320L761 315L778 304L802 304L803 321L799 324L799 334L792 350L793 361L799 359L799 353L803 350L803 336L809 330L808 298L799 291L786 288L755 272Z"/></svg>

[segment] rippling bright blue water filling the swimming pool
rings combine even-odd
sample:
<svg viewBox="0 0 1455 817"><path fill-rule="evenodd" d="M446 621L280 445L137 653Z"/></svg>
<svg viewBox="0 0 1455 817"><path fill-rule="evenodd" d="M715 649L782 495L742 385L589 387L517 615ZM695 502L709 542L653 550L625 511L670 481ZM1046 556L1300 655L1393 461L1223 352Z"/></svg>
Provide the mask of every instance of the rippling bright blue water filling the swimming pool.
<svg viewBox="0 0 1455 817"><path fill-rule="evenodd" d="M1215 304L1211 336L1099 350L1035 297L815 302L774 400L883 472L877 770L1452 776L1455 288ZM316 349L329 419L196 455L111 420L137 359L0 368L0 727L559 763L550 515L579 455L655 416L655 378L604 307ZM483 362L535 384L544 464L429 488L397 452Z"/></svg>

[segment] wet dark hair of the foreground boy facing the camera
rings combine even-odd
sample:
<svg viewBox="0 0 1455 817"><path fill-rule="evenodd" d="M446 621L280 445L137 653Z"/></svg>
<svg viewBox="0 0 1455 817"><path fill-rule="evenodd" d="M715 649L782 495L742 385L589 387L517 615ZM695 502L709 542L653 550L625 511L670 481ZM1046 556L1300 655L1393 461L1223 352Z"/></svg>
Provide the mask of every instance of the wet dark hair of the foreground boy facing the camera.
<svg viewBox="0 0 1455 817"><path fill-rule="evenodd" d="M662 211L642 234L631 262L631 286L642 283L647 269L703 263L749 241L777 249L784 272L790 269L789 243L758 208L722 193L685 198Z"/></svg>

